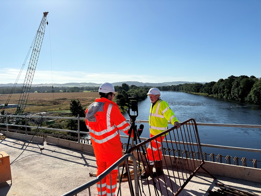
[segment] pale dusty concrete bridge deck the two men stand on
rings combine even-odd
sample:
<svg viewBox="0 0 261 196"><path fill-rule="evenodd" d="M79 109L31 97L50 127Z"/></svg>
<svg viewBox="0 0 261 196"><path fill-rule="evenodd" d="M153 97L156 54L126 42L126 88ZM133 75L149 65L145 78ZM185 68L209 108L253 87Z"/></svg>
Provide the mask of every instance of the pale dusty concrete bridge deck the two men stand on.
<svg viewBox="0 0 261 196"><path fill-rule="evenodd" d="M94 154L46 142L44 144L31 142L29 145L28 143L28 141L15 138L0 140L0 151L10 156L12 176L12 181L0 184L0 196L59 196L94 179L89 175L96 173ZM217 180L203 173L197 173L179 195L207 196L209 193L206 191L216 191L219 188L215 185L217 182L261 191L261 183L222 176L215 177ZM151 183L151 178L149 180ZM147 185L147 181L143 181L143 184ZM121 190L122 196L130 195L127 181L122 182ZM90 191L91 195L97 195L96 185L92 186ZM170 194L172 195L172 193L159 191L159 195ZM261 193L255 194L261 195ZM83 195L89 195L88 190L77 194L77 196ZM142 195L150 195L149 190L144 189Z"/></svg>

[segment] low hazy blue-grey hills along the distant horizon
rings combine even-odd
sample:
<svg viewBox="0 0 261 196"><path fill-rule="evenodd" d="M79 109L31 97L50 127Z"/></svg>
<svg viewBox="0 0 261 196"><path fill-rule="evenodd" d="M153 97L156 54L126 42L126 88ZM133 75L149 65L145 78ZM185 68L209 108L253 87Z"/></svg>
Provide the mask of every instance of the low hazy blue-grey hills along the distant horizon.
<svg viewBox="0 0 261 196"><path fill-rule="evenodd" d="M143 83L143 82L137 82L137 81L126 81L126 82L115 82L112 83L114 86L121 86L122 83L126 83L127 85L135 85L137 87L139 86L152 86L152 87L160 87L160 86L171 86L171 85L179 85L179 84L185 84L185 83L202 83L205 84L206 82L185 82L185 81L176 81L176 82L163 82L163 83ZM8 83L8 84L0 84L0 87L13 87L14 84ZM99 87L101 84L97 83L64 83L64 84L54 84L54 87ZM17 84L17 87L23 86L23 84ZM32 87L40 87L40 86L52 86L52 84L32 84Z"/></svg>

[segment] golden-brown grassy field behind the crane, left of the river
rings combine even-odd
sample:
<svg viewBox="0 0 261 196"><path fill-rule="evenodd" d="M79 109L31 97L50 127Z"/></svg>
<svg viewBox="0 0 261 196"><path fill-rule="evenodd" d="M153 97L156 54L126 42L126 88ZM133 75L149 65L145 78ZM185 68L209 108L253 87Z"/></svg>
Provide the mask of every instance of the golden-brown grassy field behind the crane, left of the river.
<svg viewBox="0 0 261 196"><path fill-rule="evenodd" d="M5 104L9 94L0 95L0 104ZM24 113L37 112L70 112L71 99L80 100L83 108L87 108L96 98L98 92L77 93L30 93ZM20 94L13 94L9 104L18 104ZM15 113L16 108L7 108L5 113Z"/></svg>

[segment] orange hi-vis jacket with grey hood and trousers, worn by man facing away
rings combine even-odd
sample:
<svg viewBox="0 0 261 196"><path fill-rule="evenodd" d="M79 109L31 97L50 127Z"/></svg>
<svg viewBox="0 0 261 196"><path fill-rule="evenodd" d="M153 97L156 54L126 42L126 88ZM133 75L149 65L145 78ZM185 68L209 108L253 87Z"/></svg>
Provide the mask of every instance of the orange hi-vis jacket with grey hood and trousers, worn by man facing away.
<svg viewBox="0 0 261 196"><path fill-rule="evenodd" d="M104 97L95 99L85 111L85 123L89 129L90 138L96 157L97 176L122 157L122 143L119 130L128 135L130 124L121 114L116 103ZM133 136L132 136L133 137ZM97 183L98 195L114 196L117 188L118 168ZM100 186L102 190L100 190ZM112 193L110 191L112 187Z"/></svg>

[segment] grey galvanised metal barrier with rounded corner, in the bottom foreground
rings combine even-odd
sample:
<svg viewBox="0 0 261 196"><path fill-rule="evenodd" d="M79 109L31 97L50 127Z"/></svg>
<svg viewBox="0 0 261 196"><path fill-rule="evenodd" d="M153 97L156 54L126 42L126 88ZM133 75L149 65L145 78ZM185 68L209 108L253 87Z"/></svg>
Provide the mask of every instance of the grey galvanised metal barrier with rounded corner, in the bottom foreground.
<svg viewBox="0 0 261 196"><path fill-rule="evenodd" d="M128 158L131 158L131 162L133 162L133 164L129 164ZM120 176L122 176L122 172L120 172L120 165L123 165L122 163L126 164L126 179L131 179L128 181L128 186L127 188L122 188L121 186L121 182L122 182L122 178L119 178ZM107 175L110 176L110 173L112 170L114 170L114 168L118 167L118 180L119 183L117 183L117 189L115 195L131 195L131 196L139 196L139 185L138 185L138 165L137 165L137 161L136 158L132 155L132 154L125 154L124 156L122 156L119 160L117 160L112 166L110 166L108 169L106 169L102 174L100 174L98 177L96 177L95 179L63 194L62 196L77 196L78 193L85 191L86 189L88 189L88 193L86 193L86 191L84 192L84 195L102 195L101 193L98 193L97 189L96 189L96 184L98 182L100 182L101 184L101 180L106 177ZM111 180L111 176L110 176L110 180ZM110 189L112 190L112 187L110 186Z"/></svg>

